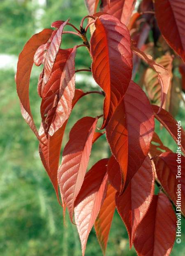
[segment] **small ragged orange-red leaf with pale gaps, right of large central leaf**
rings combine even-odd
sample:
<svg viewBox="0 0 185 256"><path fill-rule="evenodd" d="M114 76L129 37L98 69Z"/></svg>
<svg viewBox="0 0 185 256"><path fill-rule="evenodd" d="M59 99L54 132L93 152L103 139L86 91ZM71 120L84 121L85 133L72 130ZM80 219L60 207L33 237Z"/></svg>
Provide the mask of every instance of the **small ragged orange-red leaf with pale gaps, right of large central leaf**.
<svg viewBox="0 0 185 256"><path fill-rule="evenodd" d="M157 133L153 134L153 138L150 144L150 154L151 156L158 156L162 154L162 152L171 152L171 150L164 146L162 141L160 140L160 137L157 135Z"/></svg>

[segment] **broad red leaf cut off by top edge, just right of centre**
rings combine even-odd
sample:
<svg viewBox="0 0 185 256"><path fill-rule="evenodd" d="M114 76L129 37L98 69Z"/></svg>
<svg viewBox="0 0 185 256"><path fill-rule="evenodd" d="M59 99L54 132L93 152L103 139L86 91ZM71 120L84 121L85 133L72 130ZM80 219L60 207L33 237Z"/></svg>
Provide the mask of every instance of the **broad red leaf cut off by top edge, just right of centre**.
<svg viewBox="0 0 185 256"><path fill-rule="evenodd" d="M129 24L136 0L102 0L102 12L118 18L125 25Z"/></svg>

